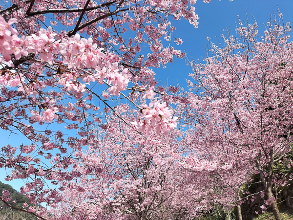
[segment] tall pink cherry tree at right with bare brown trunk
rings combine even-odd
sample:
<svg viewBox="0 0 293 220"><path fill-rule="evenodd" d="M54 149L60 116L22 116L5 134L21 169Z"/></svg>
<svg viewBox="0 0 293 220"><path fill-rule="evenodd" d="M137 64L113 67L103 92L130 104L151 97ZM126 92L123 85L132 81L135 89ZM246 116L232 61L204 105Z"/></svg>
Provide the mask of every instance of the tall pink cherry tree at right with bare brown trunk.
<svg viewBox="0 0 293 220"><path fill-rule="evenodd" d="M201 141L209 143L205 156L226 158L227 171L239 172L238 183L248 172L260 175L277 220L273 167L291 151L293 133L293 43L281 17L268 22L262 37L256 23L240 21L236 36L223 35L222 47L211 43L206 63L191 61L195 82L189 86L198 93L188 93L187 111Z"/></svg>

